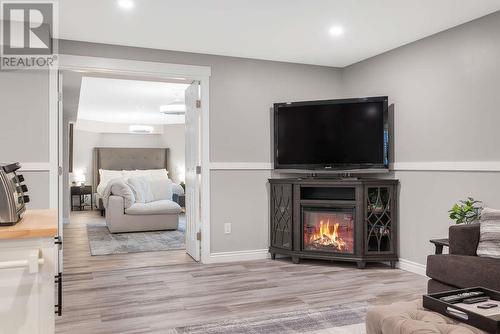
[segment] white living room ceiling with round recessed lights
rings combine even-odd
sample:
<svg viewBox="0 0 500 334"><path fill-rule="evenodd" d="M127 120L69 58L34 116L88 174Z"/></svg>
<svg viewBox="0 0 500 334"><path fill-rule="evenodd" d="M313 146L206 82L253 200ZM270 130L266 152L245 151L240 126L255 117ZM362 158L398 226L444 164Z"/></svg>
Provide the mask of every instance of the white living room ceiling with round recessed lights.
<svg viewBox="0 0 500 334"><path fill-rule="evenodd" d="M344 67L500 10L500 0L132 1L60 1L61 38Z"/></svg>

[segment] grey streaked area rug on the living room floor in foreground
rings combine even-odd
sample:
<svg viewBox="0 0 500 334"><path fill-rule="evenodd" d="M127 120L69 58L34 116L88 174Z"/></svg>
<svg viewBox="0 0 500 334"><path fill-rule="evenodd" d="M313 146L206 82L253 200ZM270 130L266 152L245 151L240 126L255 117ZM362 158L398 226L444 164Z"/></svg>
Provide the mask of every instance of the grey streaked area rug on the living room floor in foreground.
<svg viewBox="0 0 500 334"><path fill-rule="evenodd" d="M176 328L178 334L365 334L366 303Z"/></svg>

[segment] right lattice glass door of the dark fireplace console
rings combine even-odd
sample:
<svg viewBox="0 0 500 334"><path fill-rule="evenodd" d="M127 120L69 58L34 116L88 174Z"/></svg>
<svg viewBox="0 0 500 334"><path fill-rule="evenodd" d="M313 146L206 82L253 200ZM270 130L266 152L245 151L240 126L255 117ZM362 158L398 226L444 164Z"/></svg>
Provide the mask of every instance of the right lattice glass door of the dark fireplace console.
<svg viewBox="0 0 500 334"><path fill-rule="evenodd" d="M391 186L365 187L365 252L394 252L395 222Z"/></svg>

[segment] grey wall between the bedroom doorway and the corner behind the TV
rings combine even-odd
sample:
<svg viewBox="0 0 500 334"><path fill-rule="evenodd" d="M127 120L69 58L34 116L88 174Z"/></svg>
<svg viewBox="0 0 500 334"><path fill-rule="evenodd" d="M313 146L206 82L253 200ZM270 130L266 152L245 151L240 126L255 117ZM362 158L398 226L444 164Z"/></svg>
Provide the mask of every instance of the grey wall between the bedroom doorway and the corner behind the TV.
<svg viewBox="0 0 500 334"><path fill-rule="evenodd" d="M61 53L212 67L212 162L269 162L270 108L275 102L340 97L340 70L243 58L61 41ZM212 171L211 251L268 245L270 172ZM249 207L252 210L249 210ZM224 223L232 233L224 234Z"/></svg>

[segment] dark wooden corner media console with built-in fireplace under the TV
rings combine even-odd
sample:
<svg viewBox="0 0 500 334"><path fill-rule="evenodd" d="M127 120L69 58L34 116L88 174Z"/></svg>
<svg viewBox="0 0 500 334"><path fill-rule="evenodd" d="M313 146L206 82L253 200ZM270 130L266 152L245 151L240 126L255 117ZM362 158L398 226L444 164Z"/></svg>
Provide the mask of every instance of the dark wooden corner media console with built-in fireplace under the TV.
<svg viewBox="0 0 500 334"><path fill-rule="evenodd" d="M393 179L270 179L271 258L356 262L397 255L397 188Z"/></svg>

